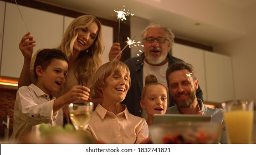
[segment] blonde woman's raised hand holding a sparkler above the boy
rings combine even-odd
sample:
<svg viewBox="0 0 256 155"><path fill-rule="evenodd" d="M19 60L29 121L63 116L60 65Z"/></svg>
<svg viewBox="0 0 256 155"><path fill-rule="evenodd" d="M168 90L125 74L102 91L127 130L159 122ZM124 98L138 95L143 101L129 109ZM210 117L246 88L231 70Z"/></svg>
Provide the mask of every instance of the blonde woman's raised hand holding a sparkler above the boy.
<svg viewBox="0 0 256 155"><path fill-rule="evenodd" d="M35 40L30 36L30 32L26 33L19 43L19 49L22 51L24 59L31 59L33 54L33 48L35 46Z"/></svg>

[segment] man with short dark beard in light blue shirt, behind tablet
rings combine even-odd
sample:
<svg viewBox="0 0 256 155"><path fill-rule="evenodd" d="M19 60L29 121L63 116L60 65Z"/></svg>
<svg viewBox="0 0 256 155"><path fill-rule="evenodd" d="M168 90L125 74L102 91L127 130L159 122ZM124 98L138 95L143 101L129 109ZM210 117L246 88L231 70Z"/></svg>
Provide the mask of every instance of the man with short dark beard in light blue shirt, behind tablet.
<svg viewBox="0 0 256 155"><path fill-rule="evenodd" d="M222 124L220 143L227 143L223 110L207 107L196 97L198 79L194 75L193 66L185 62L173 63L166 71L166 80L170 97L175 102L175 106L168 107L166 113L212 115L212 122Z"/></svg>

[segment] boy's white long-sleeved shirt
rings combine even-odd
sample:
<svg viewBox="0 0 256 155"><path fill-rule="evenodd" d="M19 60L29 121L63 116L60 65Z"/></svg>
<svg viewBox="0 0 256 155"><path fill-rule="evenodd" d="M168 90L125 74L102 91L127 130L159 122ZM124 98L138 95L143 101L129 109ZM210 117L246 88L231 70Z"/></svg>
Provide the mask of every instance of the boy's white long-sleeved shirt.
<svg viewBox="0 0 256 155"><path fill-rule="evenodd" d="M10 141L20 141L22 136L32 134L38 138L41 123L55 126L58 111L53 113L55 97L45 94L34 84L22 86L16 94L13 133Z"/></svg>

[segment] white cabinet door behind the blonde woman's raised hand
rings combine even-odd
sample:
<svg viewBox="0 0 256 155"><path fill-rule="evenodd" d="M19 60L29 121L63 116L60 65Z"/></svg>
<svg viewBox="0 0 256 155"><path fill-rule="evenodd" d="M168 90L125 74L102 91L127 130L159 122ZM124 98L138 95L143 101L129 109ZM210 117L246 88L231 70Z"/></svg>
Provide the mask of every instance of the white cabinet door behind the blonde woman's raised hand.
<svg viewBox="0 0 256 155"><path fill-rule="evenodd" d="M59 45L63 35L62 15L24 6L19 6L19 9L29 32L36 41L34 53L41 48L55 48ZM16 4L7 3L4 18L2 76L19 77L21 74L23 55L18 44L25 33L27 29Z"/></svg>

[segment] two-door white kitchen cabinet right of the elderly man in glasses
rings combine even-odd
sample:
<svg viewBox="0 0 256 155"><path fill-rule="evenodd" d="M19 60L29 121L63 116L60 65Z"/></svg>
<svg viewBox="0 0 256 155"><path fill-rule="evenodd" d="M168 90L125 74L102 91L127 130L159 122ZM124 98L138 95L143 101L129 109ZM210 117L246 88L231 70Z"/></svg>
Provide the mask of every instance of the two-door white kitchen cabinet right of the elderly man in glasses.
<svg viewBox="0 0 256 155"><path fill-rule="evenodd" d="M223 102L234 99L230 56L177 43L173 45L172 55L193 65L205 101Z"/></svg>

